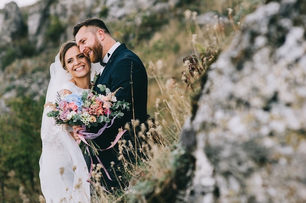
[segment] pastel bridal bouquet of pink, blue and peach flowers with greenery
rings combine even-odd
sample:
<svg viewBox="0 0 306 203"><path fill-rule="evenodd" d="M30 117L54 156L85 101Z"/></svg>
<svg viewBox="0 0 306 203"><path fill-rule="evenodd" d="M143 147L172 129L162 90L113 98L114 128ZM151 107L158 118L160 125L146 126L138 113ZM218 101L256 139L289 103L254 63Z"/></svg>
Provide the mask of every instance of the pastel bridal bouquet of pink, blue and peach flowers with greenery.
<svg viewBox="0 0 306 203"><path fill-rule="evenodd" d="M115 119L121 118L124 115L121 110L130 110L130 103L117 101L115 94L118 89L115 92L110 92L105 85L98 84L97 86L102 92L105 91L106 95L93 91L84 91L82 95L60 96L58 94L54 103L46 103L52 108L46 115L54 118L56 124L81 125L83 127L83 130L79 131L79 137L83 142L79 142L79 145L84 153L88 151L87 146L89 146L94 155L99 154L100 147L92 139L101 135ZM86 132L86 128L98 125L101 126L98 133ZM119 132L117 137L122 134L123 132Z"/></svg>

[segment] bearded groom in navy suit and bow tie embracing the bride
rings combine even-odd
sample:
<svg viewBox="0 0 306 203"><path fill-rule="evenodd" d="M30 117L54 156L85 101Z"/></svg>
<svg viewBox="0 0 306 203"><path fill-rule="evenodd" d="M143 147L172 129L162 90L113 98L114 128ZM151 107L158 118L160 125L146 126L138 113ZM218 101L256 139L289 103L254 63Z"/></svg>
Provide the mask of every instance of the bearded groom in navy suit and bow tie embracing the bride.
<svg viewBox="0 0 306 203"><path fill-rule="evenodd" d="M101 92L97 84L105 84L106 87L114 92L121 88L116 93L118 101L125 101L131 104L130 111L124 111L124 116L120 119L115 119L111 127L107 128L102 135L94 139L101 149L109 147L118 134L118 129L125 127L126 123L131 124L131 120L139 120L144 123L147 120L147 95L148 95L148 77L146 69L139 59L131 50L127 49L125 44L115 41L105 23L99 19L88 19L77 24L73 28L73 36L76 40L80 51L90 59L92 63L100 62L102 66L101 72L95 82L93 90L99 94ZM97 132L99 129L91 129L92 132ZM128 133L123 135L123 139L131 140L134 143L134 137ZM135 146L134 146L135 147ZM134 148L135 150L135 148ZM117 169L120 166L120 161L117 158L118 144L109 150L100 151L99 159L106 167L111 176L109 180L104 173L104 181L101 181L108 189L111 187L119 188L120 183L116 176L120 176L119 171L116 176L113 173L110 162L115 162L113 166ZM84 155L86 156L86 155ZM87 155L88 156L88 155ZM93 163L99 163L95 157L92 157ZM90 159L86 158L88 169L90 168ZM121 170L123 170L123 167ZM122 177L124 178L124 177ZM122 181L121 183L123 183ZM124 187L124 185L122 185Z"/></svg>

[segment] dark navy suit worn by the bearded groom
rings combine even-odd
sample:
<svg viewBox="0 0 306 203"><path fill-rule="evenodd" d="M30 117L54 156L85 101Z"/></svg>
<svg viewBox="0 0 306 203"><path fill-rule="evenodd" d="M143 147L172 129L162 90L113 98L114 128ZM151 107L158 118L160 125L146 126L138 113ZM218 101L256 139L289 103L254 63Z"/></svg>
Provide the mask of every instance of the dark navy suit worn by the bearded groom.
<svg viewBox="0 0 306 203"><path fill-rule="evenodd" d="M102 135L94 139L101 149L105 149L114 141L118 134L118 128L122 127L124 129L125 124L131 122L133 119L133 113L135 120L138 119L140 123L146 122L148 77L146 69L139 57L131 50L127 49L125 44L121 44L111 55L102 75L97 78L93 87L93 90L97 93L105 94L105 92L100 91L96 86L97 84L105 84L111 92L120 88L115 95L117 100L124 100L131 104L130 111L123 111L124 116L122 118L115 119L111 127L107 128ZM90 129L90 131L93 132L97 130L97 128ZM133 135L131 136L128 132L125 133L124 139L131 141L134 140ZM118 154L116 152L118 152L118 144L116 144L112 149L99 152L99 158L107 169L109 169L111 161L118 163ZM93 159L93 162L98 163L95 158ZM111 170L109 171L111 173ZM113 182L107 180L106 182L108 182L106 183L107 186L117 186Z"/></svg>

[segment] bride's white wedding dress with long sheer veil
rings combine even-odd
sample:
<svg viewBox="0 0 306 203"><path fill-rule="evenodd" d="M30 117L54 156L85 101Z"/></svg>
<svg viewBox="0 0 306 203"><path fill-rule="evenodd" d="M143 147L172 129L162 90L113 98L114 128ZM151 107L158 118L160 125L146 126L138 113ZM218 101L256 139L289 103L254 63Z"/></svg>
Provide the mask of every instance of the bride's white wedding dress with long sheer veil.
<svg viewBox="0 0 306 203"><path fill-rule="evenodd" d="M92 77L100 68L98 64L91 64ZM62 89L75 94L85 91L69 82L71 77L62 68L58 56L50 66L50 75L46 102L54 102L57 92ZM48 107L44 108L43 147L39 161L41 189L46 203L90 203L88 169L82 151L65 126L55 125L53 118L46 116L49 111Z"/></svg>

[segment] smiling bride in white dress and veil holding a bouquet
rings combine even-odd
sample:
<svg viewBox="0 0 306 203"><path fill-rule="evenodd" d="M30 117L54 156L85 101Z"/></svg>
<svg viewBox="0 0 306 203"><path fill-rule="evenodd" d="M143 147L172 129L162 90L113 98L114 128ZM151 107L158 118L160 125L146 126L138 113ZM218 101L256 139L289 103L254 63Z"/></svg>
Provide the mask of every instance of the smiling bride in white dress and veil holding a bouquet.
<svg viewBox="0 0 306 203"><path fill-rule="evenodd" d="M51 79L46 102L55 102L57 94L82 94L91 88L90 79L100 72L99 64L80 52L75 41L62 45L55 62L50 66ZM55 125L44 107L40 164L41 188L46 203L90 203L88 169L80 147L73 139L72 127Z"/></svg>

